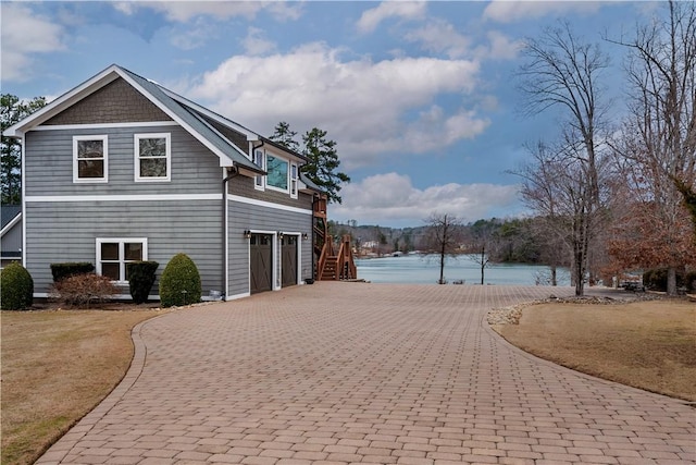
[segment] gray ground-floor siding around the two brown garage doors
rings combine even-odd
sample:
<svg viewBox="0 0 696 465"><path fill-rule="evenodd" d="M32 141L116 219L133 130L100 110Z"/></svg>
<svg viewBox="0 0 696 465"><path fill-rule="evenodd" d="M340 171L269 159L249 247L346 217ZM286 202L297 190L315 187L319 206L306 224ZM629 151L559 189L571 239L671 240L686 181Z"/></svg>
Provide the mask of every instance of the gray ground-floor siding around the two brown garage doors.
<svg viewBox="0 0 696 465"><path fill-rule="evenodd" d="M307 233L312 236L311 213L268 208L229 201L229 295L249 292L249 241L244 237L245 230L284 231ZM310 204L311 208L311 204ZM312 243L311 238L301 240L300 280L311 278L312 273ZM276 264L279 266L279 247L274 244ZM276 269L279 277L279 268Z"/></svg>

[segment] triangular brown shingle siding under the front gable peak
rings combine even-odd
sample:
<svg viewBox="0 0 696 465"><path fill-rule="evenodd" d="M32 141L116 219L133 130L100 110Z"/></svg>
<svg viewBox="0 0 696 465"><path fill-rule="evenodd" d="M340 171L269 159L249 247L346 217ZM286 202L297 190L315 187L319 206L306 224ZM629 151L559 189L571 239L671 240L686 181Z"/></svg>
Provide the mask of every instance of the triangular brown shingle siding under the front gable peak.
<svg viewBox="0 0 696 465"><path fill-rule="evenodd" d="M100 124L170 121L166 113L122 77L61 111L45 124Z"/></svg>

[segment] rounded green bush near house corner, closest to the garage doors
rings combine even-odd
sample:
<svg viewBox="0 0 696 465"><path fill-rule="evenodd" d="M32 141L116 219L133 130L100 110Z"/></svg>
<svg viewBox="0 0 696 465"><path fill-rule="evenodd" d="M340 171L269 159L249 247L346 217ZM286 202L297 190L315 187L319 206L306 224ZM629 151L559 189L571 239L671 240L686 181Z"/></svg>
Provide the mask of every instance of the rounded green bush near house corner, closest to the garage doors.
<svg viewBox="0 0 696 465"><path fill-rule="evenodd" d="M176 254L162 271L160 301L162 307L190 305L200 302L200 273L186 254Z"/></svg>

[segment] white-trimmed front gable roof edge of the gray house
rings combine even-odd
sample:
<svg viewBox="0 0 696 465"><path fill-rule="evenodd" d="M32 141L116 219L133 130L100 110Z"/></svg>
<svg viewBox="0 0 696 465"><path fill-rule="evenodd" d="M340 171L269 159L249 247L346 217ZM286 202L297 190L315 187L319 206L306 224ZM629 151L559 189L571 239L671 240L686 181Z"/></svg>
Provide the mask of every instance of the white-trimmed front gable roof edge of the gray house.
<svg viewBox="0 0 696 465"><path fill-rule="evenodd" d="M172 120L177 122L201 144L208 147L214 155L220 158L221 167L244 168L256 173L265 172L257 167L246 152L229 142L225 136L212 127L204 119L202 119L190 108L179 103L170 95L171 91L157 83L139 76L124 68L112 64L99 74L78 85L77 87L63 94L52 102L48 103L40 110L32 113L24 120L13 124L4 131L4 135L9 137L21 137L25 132L32 130L67 109L75 102L82 100L94 91L102 88L107 84L122 77L130 84L136 90L142 94L147 99L160 108ZM202 108L202 107L201 107ZM248 131L248 130L247 130Z"/></svg>

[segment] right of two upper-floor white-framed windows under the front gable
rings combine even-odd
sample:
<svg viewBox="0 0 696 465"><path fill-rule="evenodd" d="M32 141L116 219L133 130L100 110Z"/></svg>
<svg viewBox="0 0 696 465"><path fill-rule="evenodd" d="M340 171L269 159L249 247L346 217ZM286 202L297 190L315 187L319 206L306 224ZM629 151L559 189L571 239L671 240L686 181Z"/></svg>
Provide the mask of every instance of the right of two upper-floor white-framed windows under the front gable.
<svg viewBox="0 0 696 465"><path fill-rule="evenodd" d="M135 180L170 181L172 143L169 133L135 135Z"/></svg>

